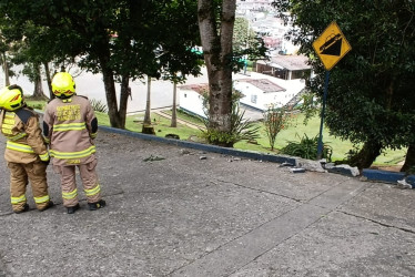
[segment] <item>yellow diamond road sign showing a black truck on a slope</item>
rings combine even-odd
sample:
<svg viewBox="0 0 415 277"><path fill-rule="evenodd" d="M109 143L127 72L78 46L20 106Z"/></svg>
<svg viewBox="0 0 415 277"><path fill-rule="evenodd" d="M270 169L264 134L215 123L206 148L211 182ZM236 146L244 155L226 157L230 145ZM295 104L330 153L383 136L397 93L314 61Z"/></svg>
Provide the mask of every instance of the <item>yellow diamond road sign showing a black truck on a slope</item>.
<svg viewBox="0 0 415 277"><path fill-rule="evenodd" d="M352 49L337 23L334 21L330 23L324 32L313 42L313 48L326 70L333 69L333 66Z"/></svg>

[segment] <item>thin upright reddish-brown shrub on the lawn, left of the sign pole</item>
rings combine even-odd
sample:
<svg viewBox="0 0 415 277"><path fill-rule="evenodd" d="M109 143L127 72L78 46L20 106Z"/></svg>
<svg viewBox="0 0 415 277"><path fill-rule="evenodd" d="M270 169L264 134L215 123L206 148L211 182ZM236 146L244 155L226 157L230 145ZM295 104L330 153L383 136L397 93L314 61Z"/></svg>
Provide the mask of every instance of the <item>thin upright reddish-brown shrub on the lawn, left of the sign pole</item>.
<svg viewBox="0 0 415 277"><path fill-rule="evenodd" d="M270 141L271 151L274 151L276 135L290 123L289 112L289 107L277 107L276 104L269 105L269 109L264 112L265 133Z"/></svg>

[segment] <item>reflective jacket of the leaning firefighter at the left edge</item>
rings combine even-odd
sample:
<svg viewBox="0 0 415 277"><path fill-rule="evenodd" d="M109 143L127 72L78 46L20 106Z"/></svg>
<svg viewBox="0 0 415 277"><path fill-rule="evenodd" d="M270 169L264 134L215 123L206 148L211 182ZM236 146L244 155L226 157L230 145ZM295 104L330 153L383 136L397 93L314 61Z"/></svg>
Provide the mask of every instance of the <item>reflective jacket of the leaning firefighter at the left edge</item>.
<svg viewBox="0 0 415 277"><path fill-rule="evenodd" d="M0 113L0 130L8 138L4 158L12 163L29 164L49 161L49 153L39 125L39 115L30 107Z"/></svg>

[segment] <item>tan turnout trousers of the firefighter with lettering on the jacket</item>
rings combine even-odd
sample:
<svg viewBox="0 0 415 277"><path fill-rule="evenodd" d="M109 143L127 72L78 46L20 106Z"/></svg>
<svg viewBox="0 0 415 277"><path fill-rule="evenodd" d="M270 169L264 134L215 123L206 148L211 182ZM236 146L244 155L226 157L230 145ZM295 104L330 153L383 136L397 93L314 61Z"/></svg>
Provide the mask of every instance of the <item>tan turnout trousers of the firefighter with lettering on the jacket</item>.
<svg viewBox="0 0 415 277"><path fill-rule="evenodd" d="M54 171L61 176L64 207L73 207L79 203L75 177L77 167L79 168L79 173L81 175L83 191L85 193L88 203L95 203L101 199L101 188L98 183L95 172L97 158L88 164L54 165Z"/></svg>

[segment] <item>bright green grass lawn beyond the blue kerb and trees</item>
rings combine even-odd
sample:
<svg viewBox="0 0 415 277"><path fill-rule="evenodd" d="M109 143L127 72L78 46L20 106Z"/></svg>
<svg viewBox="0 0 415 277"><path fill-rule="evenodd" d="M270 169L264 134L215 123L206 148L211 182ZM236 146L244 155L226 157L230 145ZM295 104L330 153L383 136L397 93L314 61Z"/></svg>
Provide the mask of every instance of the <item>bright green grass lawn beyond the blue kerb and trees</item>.
<svg viewBox="0 0 415 277"><path fill-rule="evenodd" d="M43 102L44 103L44 102ZM33 102L28 101L28 104L33 105L41 105L41 102ZM37 107L38 109L38 107ZM42 109L39 109L42 110ZM166 113L171 114L171 111L166 111ZM95 112L98 122L100 125L110 126L110 120L107 113ZM190 121L192 123L200 124L203 126L203 123L200 122L198 119L193 116L189 116L188 114L178 112L178 119L182 119L185 121ZM135 114L126 116L125 129L132 132L141 132L142 129L142 120L144 114ZM203 140L200 138L201 131L188 127L182 124L178 124L178 127L171 127L171 121L163 116L160 116L155 113L151 114L151 121L154 126L154 131L156 136L164 137L166 134L176 134L180 136L181 140L190 140L192 141L202 142ZM275 150L274 154L279 153L279 150L284 147L290 141L298 142L301 137L306 134L310 138L318 135L320 132L320 117L315 116L308 120L306 125L303 124L304 115L298 114L293 117L290 126L282 130L275 140ZM246 151L256 151L263 153L271 153L270 142L266 136L263 123L259 122L255 123L256 126L260 126L260 137L256 140L257 144L252 144L247 142L239 142L234 145L235 148L246 150ZM198 138L199 137L199 138ZM338 137L332 136L328 134L328 130L326 127L323 129L323 142L328 144L333 147L333 161L344 160L346 157L346 153L350 150L353 150L353 144L350 141L342 141ZM406 154L406 148L403 150L386 150L381 156L377 157L374 165L396 165L397 163L404 161Z"/></svg>

